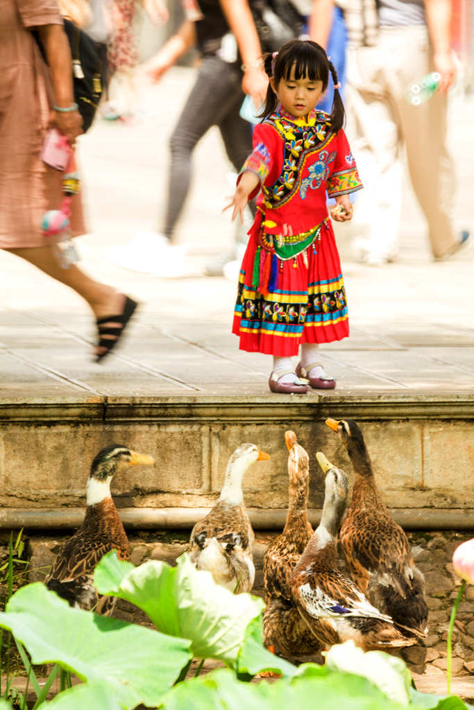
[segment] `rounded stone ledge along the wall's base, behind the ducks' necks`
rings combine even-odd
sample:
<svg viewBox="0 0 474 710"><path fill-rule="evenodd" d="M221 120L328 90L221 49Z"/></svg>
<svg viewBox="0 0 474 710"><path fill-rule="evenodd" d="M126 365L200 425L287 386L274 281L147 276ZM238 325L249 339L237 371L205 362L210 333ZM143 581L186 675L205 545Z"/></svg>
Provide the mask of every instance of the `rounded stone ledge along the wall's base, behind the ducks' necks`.
<svg viewBox="0 0 474 710"><path fill-rule="evenodd" d="M190 530L209 513L210 508L119 508L127 529ZM247 508L256 530L281 530L286 508ZM3 508L0 529L68 530L78 528L85 508ZM391 508L394 520L406 530L474 530L474 508ZM308 518L313 526L321 520L321 510L310 508Z"/></svg>

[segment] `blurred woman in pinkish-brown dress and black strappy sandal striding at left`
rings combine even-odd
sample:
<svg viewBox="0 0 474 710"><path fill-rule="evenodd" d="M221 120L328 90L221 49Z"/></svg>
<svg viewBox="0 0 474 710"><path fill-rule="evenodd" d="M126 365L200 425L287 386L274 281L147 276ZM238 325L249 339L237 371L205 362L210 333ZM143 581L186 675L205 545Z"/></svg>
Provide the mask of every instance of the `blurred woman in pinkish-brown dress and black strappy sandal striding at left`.
<svg viewBox="0 0 474 710"><path fill-rule="evenodd" d="M48 65L31 30L38 31ZM40 158L55 126L70 146L82 131L72 90L72 60L55 0L4 0L0 13L0 248L69 286L97 319L97 360L117 344L136 302L87 276L63 268L41 223L63 202L63 173ZM71 200L70 229L82 234L80 193ZM53 240L54 241L54 240Z"/></svg>

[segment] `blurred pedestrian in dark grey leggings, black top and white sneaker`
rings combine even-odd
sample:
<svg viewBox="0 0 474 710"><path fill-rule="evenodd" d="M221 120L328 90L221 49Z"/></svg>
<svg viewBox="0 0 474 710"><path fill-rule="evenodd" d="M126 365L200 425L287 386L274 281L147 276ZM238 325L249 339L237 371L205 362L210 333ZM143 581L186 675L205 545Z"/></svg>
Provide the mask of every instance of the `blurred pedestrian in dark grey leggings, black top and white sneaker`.
<svg viewBox="0 0 474 710"><path fill-rule="evenodd" d="M251 127L239 108L244 94L262 104L268 83L247 0L183 0L183 8L185 21L146 65L149 77L158 81L189 48L196 45L201 55L195 84L171 136L163 231L140 231L112 256L124 268L163 277L185 273L185 253L173 244L173 234L188 195L196 144L217 126L230 162L239 170L252 148Z"/></svg>

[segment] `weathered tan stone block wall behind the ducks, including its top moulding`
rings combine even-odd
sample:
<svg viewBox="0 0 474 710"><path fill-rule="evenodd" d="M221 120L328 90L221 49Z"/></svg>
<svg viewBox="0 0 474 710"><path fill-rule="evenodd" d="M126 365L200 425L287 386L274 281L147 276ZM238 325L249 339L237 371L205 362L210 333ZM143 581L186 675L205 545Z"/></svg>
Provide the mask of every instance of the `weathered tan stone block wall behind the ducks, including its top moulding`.
<svg viewBox="0 0 474 710"><path fill-rule="evenodd" d="M45 405L36 410L33 405L0 408L0 527L22 525L22 510L49 511L43 527L54 527L50 519L60 510L77 509L80 520L91 461L99 449L115 442L156 459L153 468L136 467L114 479L117 507L133 510L137 520L146 508L212 506L230 454L246 441L269 452L271 459L255 464L245 476L245 502L254 510L280 510L284 520L288 500L284 431L289 428L310 454L309 507L321 509L323 476L316 452L323 450L351 475L345 449L324 424L325 417L333 415L360 422L389 508L420 511L421 519L424 511L438 511L441 518L443 511L453 511L450 519L458 515L459 525L453 522L452 528L474 528L474 419L469 415L473 411L460 407L458 414L467 413L467 418L444 420L433 416L430 407L435 405L442 414L440 403L387 405L382 400L311 406L293 400L271 406L268 400L237 399L221 405L127 402L110 403L105 412L99 403L51 405L50 410ZM456 402L446 412L454 415ZM400 418L404 413L406 419ZM17 517L9 517L9 511L16 511ZM410 524L414 525L406 518L406 525Z"/></svg>

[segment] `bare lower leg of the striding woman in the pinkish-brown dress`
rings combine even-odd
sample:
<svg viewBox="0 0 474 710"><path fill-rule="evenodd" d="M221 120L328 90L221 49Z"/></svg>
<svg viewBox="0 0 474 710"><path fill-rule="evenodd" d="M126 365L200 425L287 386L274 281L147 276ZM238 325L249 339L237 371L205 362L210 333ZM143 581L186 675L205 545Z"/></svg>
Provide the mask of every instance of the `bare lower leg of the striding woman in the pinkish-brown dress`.
<svg viewBox="0 0 474 710"><path fill-rule="evenodd" d="M60 283L64 283L69 288L72 288L90 305L92 312L96 318L102 318L107 315L121 313L124 307L125 297L121 293L107 286L104 283L99 283L93 280L87 274L80 270L75 264L69 268L60 268L56 259L55 253L50 246L27 247L26 249L6 249L16 256L29 261L48 276L54 278ZM121 327L120 323L111 321L107 323L108 327ZM114 336L107 336L114 339ZM95 348L97 355L101 354L105 348Z"/></svg>

